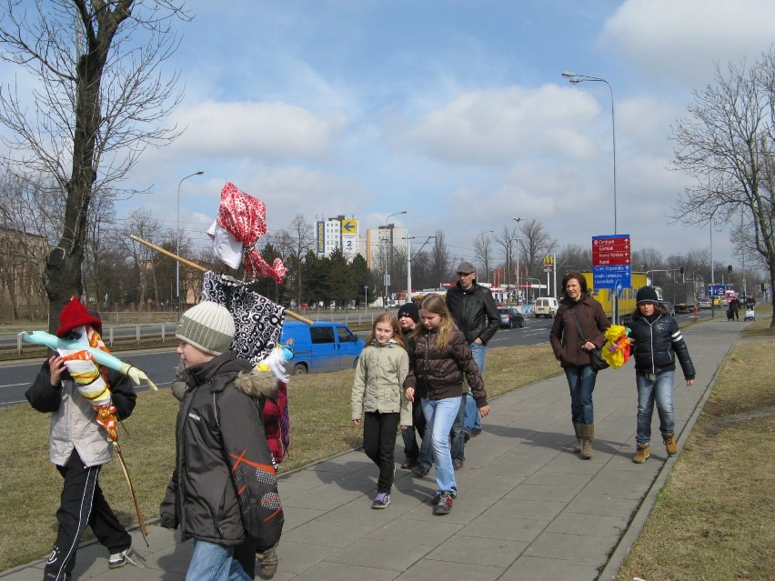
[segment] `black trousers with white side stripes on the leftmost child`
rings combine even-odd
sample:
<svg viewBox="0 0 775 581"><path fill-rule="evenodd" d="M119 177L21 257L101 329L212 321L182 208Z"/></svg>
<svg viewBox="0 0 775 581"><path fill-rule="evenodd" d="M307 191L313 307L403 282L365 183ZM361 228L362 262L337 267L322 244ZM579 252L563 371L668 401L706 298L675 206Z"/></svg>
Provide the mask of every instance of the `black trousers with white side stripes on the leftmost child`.
<svg viewBox="0 0 775 581"><path fill-rule="evenodd" d="M69 581L75 567L75 552L86 526L92 527L97 540L111 554L132 546L132 537L118 522L99 487L100 467L84 466L75 450L65 466L56 466L65 478L65 485L56 511L59 528L54 550L45 564L45 581Z"/></svg>

